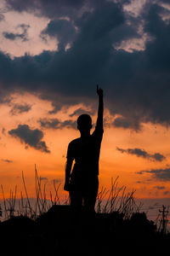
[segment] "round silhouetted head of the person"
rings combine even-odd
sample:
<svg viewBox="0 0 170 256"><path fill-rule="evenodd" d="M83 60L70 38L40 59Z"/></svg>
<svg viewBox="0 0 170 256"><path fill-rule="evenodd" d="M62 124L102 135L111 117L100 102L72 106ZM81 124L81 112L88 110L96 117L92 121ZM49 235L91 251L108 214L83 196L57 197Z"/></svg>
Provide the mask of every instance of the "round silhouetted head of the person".
<svg viewBox="0 0 170 256"><path fill-rule="evenodd" d="M92 128L92 119L89 114L83 113L77 118L77 129L81 132L90 131Z"/></svg>

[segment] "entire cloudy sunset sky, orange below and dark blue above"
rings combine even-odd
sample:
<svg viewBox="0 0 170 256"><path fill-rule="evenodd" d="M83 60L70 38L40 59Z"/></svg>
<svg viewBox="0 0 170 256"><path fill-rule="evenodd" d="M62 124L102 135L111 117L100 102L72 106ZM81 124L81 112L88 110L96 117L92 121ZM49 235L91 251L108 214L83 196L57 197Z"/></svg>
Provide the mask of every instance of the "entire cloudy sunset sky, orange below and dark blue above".
<svg viewBox="0 0 170 256"><path fill-rule="evenodd" d="M99 188L111 177L139 198L170 197L169 0L1 0L0 183L34 196L65 177L76 120L97 118L104 90ZM2 193L0 193L2 197Z"/></svg>

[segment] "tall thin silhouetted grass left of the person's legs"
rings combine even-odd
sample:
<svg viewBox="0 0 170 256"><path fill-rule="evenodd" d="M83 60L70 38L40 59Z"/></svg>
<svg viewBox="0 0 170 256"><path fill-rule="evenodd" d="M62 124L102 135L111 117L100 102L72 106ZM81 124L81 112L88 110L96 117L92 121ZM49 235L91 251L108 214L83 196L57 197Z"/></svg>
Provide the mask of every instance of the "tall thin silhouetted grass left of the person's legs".
<svg viewBox="0 0 170 256"><path fill-rule="evenodd" d="M1 216L3 219L13 218L14 216L26 216L31 219L36 219L44 212L48 212L50 207L59 205L59 186L54 181L54 195L49 191L50 200L47 199L46 184L41 182L41 177L38 176L37 166L35 166L35 198L31 199L26 189L26 180L24 172L22 172L22 182L25 189L26 196L20 191L20 195L17 193L17 186L15 186L14 192L10 189L9 198L6 199L3 191L3 185L1 184L1 190L3 195L3 209ZM63 204L68 204L69 198L67 198Z"/></svg>

